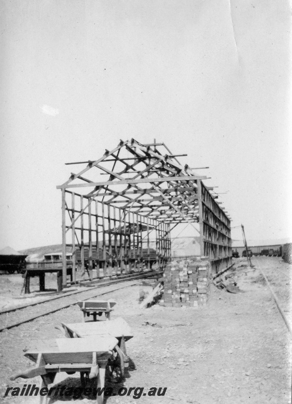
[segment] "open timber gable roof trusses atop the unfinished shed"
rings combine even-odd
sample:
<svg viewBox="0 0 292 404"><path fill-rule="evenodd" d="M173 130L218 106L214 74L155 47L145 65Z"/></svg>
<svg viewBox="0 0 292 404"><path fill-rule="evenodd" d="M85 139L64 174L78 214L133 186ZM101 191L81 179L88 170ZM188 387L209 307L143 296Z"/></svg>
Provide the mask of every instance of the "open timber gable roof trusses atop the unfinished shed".
<svg viewBox="0 0 292 404"><path fill-rule="evenodd" d="M182 166L177 156L164 143L121 140L98 160L67 163L86 166L57 188L78 188L88 201L83 212L98 200L156 220L198 222L197 182L207 177Z"/></svg>

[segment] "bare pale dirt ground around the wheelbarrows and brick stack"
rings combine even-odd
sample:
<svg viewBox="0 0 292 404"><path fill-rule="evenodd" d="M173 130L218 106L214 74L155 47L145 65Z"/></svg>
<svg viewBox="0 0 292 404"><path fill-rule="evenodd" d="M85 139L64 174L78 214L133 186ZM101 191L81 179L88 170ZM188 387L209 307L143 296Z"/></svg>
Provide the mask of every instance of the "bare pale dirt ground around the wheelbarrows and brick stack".
<svg viewBox="0 0 292 404"><path fill-rule="evenodd" d="M112 318L123 317L134 333L134 338L127 342L133 363L125 381L113 386L114 391L122 386L144 387L145 391L167 387L164 396L142 395L139 402L145 404L291 403L290 335L258 268L264 268L284 314L290 319L292 267L280 258L258 257L253 259L255 268L247 267L244 259L235 261L235 270L229 274L242 292L232 294L212 285L204 308L155 305L140 309L139 290L150 291L149 286L132 286L103 296L118 302ZM72 306L0 333L1 402L39 401L39 397L3 397L7 386L39 383L39 378L19 378L13 382L9 379L13 373L32 365L23 356L23 349L32 347L39 339L61 337L54 326L79 322L81 317L79 308ZM58 374L56 383L77 386L79 375ZM56 396L49 403L60 404L70 399ZM74 402L95 401L83 396ZM137 399L110 396L105 402L131 403Z"/></svg>

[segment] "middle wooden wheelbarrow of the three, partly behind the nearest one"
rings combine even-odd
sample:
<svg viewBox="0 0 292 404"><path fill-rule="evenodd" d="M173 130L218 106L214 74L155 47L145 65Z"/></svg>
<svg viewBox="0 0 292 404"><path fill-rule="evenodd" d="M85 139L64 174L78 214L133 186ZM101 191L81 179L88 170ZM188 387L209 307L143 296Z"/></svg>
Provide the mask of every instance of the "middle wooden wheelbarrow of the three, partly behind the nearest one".
<svg viewBox="0 0 292 404"><path fill-rule="evenodd" d="M65 331L65 336L68 338L98 338L106 335L116 338L118 343L114 347L111 357L108 359L108 368L111 376L117 382L123 380L125 368L129 366L126 341L133 338L132 330L124 319L119 317L110 321L61 324ZM59 329L62 330L62 328Z"/></svg>

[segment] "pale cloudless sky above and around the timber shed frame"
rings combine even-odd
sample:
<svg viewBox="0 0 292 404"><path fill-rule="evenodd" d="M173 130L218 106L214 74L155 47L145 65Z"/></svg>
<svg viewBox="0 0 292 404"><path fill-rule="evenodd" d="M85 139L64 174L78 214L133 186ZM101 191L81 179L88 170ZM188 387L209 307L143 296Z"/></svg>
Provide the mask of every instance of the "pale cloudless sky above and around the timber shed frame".
<svg viewBox="0 0 292 404"><path fill-rule="evenodd" d="M75 166L164 142L217 186L232 237L291 235L286 0L2 0L0 248L62 241ZM74 167L74 169L73 169ZM182 235L192 235L192 231Z"/></svg>

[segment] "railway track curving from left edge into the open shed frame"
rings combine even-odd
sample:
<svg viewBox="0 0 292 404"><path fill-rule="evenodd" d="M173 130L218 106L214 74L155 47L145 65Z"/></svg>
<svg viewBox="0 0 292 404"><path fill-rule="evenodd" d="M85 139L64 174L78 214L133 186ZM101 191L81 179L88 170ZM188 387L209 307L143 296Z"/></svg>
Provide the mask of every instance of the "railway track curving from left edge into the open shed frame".
<svg viewBox="0 0 292 404"><path fill-rule="evenodd" d="M0 332L17 327L21 324L28 323L39 317L47 316L59 310L66 309L77 304L77 300L87 300L96 296L101 296L115 290L134 286L140 283L140 279L153 276L153 272L143 273L132 276L130 279L116 279L108 282L98 283L88 290L75 291L62 296L56 296L44 301L40 301L33 305L26 305L20 308L7 310L0 313ZM155 273L159 275L159 273ZM116 287L116 284L121 286ZM106 288L106 291L97 291L97 289ZM78 296L76 296L78 294Z"/></svg>

